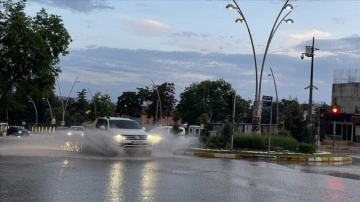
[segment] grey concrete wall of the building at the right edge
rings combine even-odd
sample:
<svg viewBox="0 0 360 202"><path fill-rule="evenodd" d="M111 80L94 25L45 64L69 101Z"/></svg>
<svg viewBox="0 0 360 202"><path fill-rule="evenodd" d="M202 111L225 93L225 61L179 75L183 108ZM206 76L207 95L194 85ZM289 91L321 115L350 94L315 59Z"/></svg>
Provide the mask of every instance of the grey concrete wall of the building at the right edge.
<svg viewBox="0 0 360 202"><path fill-rule="evenodd" d="M341 113L355 113L360 110L360 83L341 83L332 86L332 104L341 107Z"/></svg>

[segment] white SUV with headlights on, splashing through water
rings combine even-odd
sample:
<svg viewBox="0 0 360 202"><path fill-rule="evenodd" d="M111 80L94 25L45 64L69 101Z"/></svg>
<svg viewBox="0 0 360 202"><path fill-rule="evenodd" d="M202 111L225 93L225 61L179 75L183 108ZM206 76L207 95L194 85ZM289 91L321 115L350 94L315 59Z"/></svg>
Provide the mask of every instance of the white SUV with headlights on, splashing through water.
<svg viewBox="0 0 360 202"><path fill-rule="evenodd" d="M145 128L141 127L140 124L133 119L99 117L95 121L95 127L100 130L105 130L126 152L143 150L151 153L152 151L150 135L145 131Z"/></svg>

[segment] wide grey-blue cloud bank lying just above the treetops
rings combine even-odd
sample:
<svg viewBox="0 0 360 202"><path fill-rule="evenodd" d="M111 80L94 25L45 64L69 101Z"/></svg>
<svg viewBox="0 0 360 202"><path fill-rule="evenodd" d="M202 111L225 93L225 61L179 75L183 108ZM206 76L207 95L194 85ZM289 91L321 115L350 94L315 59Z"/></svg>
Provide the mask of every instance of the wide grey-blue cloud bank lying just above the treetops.
<svg viewBox="0 0 360 202"><path fill-rule="evenodd" d="M188 37L200 35L185 34ZM303 41L292 49L294 56L269 52L263 72L262 94L273 95L274 86L269 67L276 77L279 99L297 97L300 102L308 99L310 59L300 59L306 45ZM314 60L314 102L331 101L334 72L337 69L353 69L360 66L360 37L352 35L341 39L316 39L320 50ZM332 55L331 55L332 54ZM258 55L258 62L262 55ZM243 98L254 98L255 70L253 55L229 53L204 53L194 51L130 50L89 46L88 49L70 50L62 58L63 73L60 81L69 88L80 73L81 85L108 94L114 102L125 91L156 83L175 84L176 95L194 82L224 79ZM258 63L260 73L261 64ZM63 84L65 85L65 84ZM76 90L74 90L76 91Z"/></svg>

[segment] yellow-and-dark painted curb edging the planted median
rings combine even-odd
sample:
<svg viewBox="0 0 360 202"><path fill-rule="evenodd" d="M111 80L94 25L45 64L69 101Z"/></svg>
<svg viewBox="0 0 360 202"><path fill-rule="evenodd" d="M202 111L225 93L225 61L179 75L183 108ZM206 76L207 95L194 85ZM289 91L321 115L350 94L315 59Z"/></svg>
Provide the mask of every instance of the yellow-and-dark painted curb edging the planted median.
<svg viewBox="0 0 360 202"><path fill-rule="evenodd" d="M255 159L264 160L270 159L274 161L292 161L292 162L349 162L352 161L350 156L324 156L324 157L306 157L306 156L274 156L271 155L252 155L252 154L231 154L231 153L217 153L206 151L175 151L175 155L196 156L203 158L223 158L223 159Z"/></svg>

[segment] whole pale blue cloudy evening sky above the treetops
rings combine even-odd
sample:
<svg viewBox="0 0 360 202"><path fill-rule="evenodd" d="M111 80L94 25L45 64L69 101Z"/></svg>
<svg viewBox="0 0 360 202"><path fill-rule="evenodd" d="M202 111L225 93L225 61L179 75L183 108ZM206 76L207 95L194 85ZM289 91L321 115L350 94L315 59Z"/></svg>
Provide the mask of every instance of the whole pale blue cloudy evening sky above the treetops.
<svg viewBox="0 0 360 202"><path fill-rule="evenodd" d="M173 82L177 96L194 82L224 79L237 94L254 100L255 65L249 34L240 15L227 10L232 0L28 0L27 12L42 7L61 16L72 36L62 58L63 95L81 89L108 94L113 102L124 91ZM237 0L254 41L260 73L263 54L283 0ZM360 81L360 1L290 0L295 9L273 36L262 79L262 95L307 103L314 57L315 103L331 102L333 82ZM284 11L280 19L287 13ZM56 92L59 94L59 92Z"/></svg>

